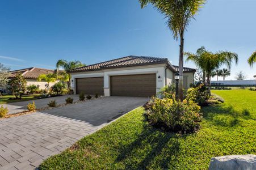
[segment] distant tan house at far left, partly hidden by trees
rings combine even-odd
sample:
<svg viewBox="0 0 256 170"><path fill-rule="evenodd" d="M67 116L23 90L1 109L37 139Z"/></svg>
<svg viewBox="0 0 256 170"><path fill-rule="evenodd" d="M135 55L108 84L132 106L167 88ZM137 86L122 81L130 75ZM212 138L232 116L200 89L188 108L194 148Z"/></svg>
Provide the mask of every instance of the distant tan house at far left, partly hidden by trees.
<svg viewBox="0 0 256 170"><path fill-rule="evenodd" d="M45 84L47 84L47 82L44 82L44 81L37 82L37 80L36 80L37 77L41 74L55 73L55 70L48 70L48 69L30 67L30 68L27 68L27 69L20 69L20 70L10 71L10 73L11 73L11 75L10 75L9 79L15 78L15 76L17 74L22 74L22 76L24 76L24 78L27 80L27 86L35 84L36 86L38 85L41 90L44 90L45 89ZM57 82L58 81L56 81L54 83L49 83L50 87L52 87Z"/></svg>

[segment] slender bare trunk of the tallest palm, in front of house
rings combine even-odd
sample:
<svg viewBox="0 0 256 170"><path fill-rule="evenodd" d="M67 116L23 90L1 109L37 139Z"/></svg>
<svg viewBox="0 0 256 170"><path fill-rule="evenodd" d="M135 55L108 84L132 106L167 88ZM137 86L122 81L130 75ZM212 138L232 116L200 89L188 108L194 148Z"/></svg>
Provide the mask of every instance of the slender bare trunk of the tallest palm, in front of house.
<svg viewBox="0 0 256 170"><path fill-rule="evenodd" d="M178 99L183 101L183 50L184 39L183 32L181 34L181 45L179 45L179 87L178 87Z"/></svg>

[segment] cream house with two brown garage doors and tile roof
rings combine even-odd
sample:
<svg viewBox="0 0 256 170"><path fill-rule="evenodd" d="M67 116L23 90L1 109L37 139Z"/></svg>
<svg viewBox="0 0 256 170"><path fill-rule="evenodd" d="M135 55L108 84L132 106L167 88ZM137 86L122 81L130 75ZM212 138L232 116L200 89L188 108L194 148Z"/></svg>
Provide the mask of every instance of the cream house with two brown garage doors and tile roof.
<svg viewBox="0 0 256 170"><path fill-rule="evenodd" d="M104 96L153 96L175 83L173 66L167 58L128 56L70 70L72 89ZM195 69L184 67L184 88L194 82Z"/></svg>

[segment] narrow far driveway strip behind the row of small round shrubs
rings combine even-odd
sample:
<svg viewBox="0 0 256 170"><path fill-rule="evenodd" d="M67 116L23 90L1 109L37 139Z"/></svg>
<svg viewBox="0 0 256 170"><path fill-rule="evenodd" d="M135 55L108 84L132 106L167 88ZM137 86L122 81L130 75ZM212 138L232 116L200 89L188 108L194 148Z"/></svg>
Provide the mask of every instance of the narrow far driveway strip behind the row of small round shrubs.
<svg viewBox="0 0 256 170"><path fill-rule="evenodd" d="M65 96L57 96L57 97L49 97L45 99L36 99L36 100L30 100L30 101L18 101L14 103L9 104L3 104L4 107L7 107L9 109L9 114L19 113L27 110L28 103L32 103L32 101L35 101L36 108L44 108L48 107L48 103L51 100L56 100L57 104L64 104L66 103L65 99L68 97L72 97L74 101L78 101L78 95L65 95Z"/></svg>

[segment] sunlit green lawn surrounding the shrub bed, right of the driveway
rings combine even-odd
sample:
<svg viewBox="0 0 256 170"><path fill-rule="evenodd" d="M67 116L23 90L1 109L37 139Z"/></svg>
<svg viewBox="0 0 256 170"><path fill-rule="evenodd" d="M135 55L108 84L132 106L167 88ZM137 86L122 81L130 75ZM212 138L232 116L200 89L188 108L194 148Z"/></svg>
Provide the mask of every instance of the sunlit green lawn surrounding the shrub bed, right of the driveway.
<svg viewBox="0 0 256 170"><path fill-rule="evenodd" d="M143 108L121 117L52 156L41 169L207 169L213 156L256 154L256 92L212 91L225 103L202 109L195 134L164 133L144 120Z"/></svg>

